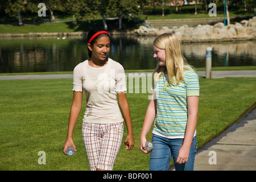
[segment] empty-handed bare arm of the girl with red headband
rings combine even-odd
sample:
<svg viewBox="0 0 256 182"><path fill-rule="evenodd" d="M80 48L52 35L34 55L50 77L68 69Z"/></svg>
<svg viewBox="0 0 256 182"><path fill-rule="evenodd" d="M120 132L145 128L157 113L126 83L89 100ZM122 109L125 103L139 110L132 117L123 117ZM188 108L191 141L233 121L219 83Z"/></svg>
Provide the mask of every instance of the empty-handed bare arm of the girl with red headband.
<svg viewBox="0 0 256 182"><path fill-rule="evenodd" d="M133 125L131 123L131 114L126 93L118 93L118 105L122 111L123 119L125 119L125 124L127 127L127 137L125 139L126 150L131 150L134 146L134 136Z"/></svg>

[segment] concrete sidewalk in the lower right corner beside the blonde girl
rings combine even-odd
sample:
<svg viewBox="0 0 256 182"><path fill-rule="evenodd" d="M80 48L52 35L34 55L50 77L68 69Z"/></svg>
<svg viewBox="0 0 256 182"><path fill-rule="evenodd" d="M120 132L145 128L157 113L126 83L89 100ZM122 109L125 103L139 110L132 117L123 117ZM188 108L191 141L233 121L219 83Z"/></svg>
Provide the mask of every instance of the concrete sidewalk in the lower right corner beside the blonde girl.
<svg viewBox="0 0 256 182"><path fill-rule="evenodd" d="M256 170L256 109L246 115L197 151L195 171Z"/></svg>

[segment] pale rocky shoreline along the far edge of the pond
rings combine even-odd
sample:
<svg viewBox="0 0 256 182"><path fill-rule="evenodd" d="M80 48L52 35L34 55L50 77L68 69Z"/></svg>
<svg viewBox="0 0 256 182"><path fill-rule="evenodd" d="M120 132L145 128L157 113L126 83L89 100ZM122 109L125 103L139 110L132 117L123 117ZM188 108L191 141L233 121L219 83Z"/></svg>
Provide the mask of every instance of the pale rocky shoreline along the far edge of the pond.
<svg viewBox="0 0 256 182"><path fill-rule="evenodd" d="M256 16L249 20L242 20L240 23L224 26L219 22L212 25L197 25L189 27L184 24L180 27L154 28L150 26L140 26L138 29L126 32L110 32L112 35L138 35L138 36L158 36L164 32L172 32L181 42L221 42L256 39ZM63 33L28 33L28 34L0 34L0 38L15 37L72 37L86 36L87 32L63 32Z"/></svg>

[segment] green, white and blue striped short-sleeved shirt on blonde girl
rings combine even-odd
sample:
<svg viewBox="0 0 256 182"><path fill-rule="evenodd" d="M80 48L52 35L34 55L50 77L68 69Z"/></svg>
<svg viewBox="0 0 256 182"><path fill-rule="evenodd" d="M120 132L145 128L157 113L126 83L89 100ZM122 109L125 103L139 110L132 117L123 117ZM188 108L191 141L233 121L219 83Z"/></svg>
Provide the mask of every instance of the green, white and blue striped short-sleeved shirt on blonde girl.
<svg viewBox="0 0 256 182"><path fill-rule="evenodd" d="M184 135L187 125L187 97L199 96L199 77L193 71L184 71L179 85L170 85L164 74L156 82L156 109L154 122L156 133L175 136ZM153 131L154 133L154 131Z"/></svg>

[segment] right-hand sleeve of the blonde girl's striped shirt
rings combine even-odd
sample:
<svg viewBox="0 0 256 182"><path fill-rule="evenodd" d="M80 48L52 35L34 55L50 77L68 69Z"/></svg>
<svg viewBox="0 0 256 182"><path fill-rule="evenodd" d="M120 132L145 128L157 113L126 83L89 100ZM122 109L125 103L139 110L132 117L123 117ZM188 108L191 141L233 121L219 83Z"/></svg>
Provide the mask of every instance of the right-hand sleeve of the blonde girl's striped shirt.
<svg viewBox="0 0 256 182"><path fill-rule="evenodd" d="M187 96L199 96L199 77L196 72L187 71L185 75L185 81L187 83Z"/></svg>

